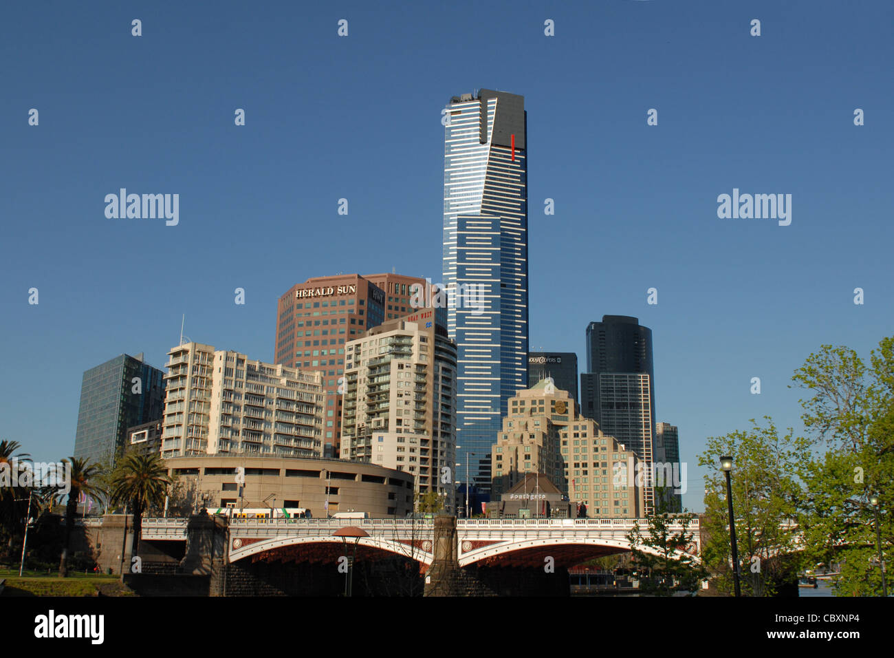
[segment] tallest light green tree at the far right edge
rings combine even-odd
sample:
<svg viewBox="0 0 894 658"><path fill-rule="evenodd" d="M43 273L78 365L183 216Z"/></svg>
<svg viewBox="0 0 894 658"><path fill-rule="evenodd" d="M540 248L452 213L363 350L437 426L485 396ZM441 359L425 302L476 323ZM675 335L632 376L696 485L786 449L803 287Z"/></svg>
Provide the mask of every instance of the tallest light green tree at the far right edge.
<svg viewBox="0 0 894 658"><path fill-rule="evenodd" d="M882 553L894 543L894 338L883 338L867 366L845 346L821 346L792 380L809 392L801 418L825 448L803 469L807 495L798 523L814 562L841 565L839 595L881 594L875 515L879 497ZM888 574L888 587L892 588Z"/></svg>

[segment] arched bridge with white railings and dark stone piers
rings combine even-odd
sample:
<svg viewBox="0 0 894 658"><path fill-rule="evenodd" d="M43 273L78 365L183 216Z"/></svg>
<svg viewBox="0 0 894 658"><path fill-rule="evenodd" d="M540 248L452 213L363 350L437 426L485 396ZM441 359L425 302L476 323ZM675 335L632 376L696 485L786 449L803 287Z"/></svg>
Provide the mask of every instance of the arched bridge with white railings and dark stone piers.
<svg viewBox="0 0 894 658"><path fill-rule="evenodd" d="M82 523L105 571L146 595L331 596L345 591L341 528L365 536L350 557L356 595L569 595L568 569L630 551L627 535L645 519L142 519L139 560L132 519ZM672 532L683 530L679 523ZM698 560L698 519L692 542ZM355 553L356 551L356 553ZM136 567L134 567L136 565Z"/></svg>

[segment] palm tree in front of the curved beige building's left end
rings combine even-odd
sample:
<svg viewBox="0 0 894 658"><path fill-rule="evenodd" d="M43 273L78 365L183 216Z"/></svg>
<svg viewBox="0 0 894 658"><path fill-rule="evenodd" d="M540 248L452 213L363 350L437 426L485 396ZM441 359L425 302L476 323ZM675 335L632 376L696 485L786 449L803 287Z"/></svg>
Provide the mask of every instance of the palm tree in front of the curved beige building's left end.
<svg viewBox="0 0 894 658"><path fill-rule="evenodd" d="M131 556L137 555L139 548L143 512L164 504L170 483L167 468L159 455L125 455L115 469L109 496L113 504L130 505L133 511Z"/></svg>

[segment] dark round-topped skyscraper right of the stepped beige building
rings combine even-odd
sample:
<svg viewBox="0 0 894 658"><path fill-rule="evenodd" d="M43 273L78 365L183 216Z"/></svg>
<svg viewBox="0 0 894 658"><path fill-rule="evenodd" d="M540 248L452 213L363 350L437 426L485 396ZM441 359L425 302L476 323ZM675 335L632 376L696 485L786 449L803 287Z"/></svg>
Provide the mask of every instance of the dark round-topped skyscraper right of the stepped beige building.
<svg viewBox="0 0 894 658"><path fill-rule="evenodd" d="M586 327L586 372L580 376L581 413L637 453L650 474L645 480L646 509L654 491L654 366L652 329L637 318L603 315Z"/></svg>

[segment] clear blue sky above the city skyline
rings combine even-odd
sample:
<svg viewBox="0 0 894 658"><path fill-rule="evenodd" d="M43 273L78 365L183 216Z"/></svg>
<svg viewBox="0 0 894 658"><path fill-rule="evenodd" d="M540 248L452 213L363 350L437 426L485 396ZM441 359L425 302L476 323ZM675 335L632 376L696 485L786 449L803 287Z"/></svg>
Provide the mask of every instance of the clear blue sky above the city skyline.
<svg viewBox="0 0 894 658"><path fill-rule="evenodd" d="M441 109L485 87L525 96L532 349L584 364L588 321L652 328L657 420L701 509L705 437L799 428L805 357L894 333L892 19L887 1L4 4L0 438L70 455L82 372L162 366L182 313L190 338L272 360L299 281L440 280ZM180 224L105 218L121 187L179 193ZM791 225L718 218L733 188L790 193Z"/></svg>

